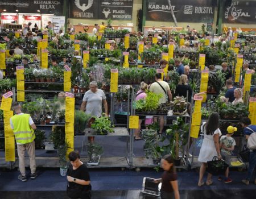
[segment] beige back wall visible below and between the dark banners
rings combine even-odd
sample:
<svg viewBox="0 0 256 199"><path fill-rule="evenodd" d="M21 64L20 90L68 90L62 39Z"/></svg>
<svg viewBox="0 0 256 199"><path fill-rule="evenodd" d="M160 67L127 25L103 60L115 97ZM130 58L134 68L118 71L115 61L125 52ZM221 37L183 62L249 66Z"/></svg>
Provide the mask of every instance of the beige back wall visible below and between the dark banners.
<svg viewBox="0 0 256 199"><path fill-rule="evenodd" d="M142 9L142 1L143 0L134 0L133 3L133 16L132 16L132 20L113 20L112 25L119 25L119 24L123 24L126 25L127 23L133 23L134 24L134 30L138 31L138 26L137 26L137 12L138 10ZM170 17L172 17L170 15ZM106 20L103 19L68 19L68 22L71 24L94 24L94 23L98 23L101 24L101 22L105 22ZM217 7L215 7L214 9L214 19L213 19L213 28L216 28L216 23L217 23ZM190 25L191 28L195 28L196 30L200 31L201 30L201 26L203 24L203 22L199 22L199 23L189 23L189 22L177 22L178 27L187 27L187 25ZM204 23L205 25L207 23ZM256 22L255 22L256 24ZM226 27L241 27L241 28L255 28L255 24L238 24L238 23L223 23L222 27L226 26ZM145 26L175 26L174 22L158 22L158 21L151 21L151 20L146 20L146 24Z"/></svg>

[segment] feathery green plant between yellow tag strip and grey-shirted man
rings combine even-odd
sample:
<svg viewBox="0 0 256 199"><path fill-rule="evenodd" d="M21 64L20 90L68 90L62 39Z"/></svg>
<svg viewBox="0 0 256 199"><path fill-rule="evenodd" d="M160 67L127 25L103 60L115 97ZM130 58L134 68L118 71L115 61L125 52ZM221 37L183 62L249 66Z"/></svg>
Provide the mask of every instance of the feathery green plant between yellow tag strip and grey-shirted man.
<svg viewBox="0 0 256 199"><path fill-rule="evenodd" d="M75 131L78 134L84 134L85 128L88 125L88 121L91 118L90 114L86 114L84 111L75 110Z"/></svg>

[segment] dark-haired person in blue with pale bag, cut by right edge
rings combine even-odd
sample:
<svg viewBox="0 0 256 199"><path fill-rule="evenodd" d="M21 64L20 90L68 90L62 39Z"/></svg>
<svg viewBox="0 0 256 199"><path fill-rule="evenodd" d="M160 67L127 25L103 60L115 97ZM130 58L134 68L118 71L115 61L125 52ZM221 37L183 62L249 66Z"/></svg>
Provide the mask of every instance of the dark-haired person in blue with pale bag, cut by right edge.
<svg viewBox="0 0 256 199"><path fill-rule="evenodd" d="M256 125L251 125L251 120L248 117L242 118L240 121L240 124L243 127L243 133L245 134L245 139L248 141L251 134L256 133ZM248 168L246 179L242 180L242 183L246 185L250 184L250 180L253 177L253 171L255 171L254 184L256 184L256 150L250 150L249 168Z"/></svg>

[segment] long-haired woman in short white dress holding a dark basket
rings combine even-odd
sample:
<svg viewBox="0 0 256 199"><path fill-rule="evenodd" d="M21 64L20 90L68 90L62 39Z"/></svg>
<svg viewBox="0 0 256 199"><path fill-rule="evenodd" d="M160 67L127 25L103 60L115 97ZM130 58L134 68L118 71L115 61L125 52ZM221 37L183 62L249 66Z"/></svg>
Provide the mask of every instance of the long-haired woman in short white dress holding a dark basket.
<svg viewBox="0 0 256 199"><path fill-rule="evenodd" d="M204 185L203 177L207 168L207 161L212 161L214 156L221 159L220 146L218 144L218 139L221 136L221 131L218 128L218 113L210 115L208 122L204 122L201 126L201 131L204 132L204 140L198 157L198 160L202 163L198 186ZM212 184L212 174L210 173L208 173L206 184Z"/></svg>

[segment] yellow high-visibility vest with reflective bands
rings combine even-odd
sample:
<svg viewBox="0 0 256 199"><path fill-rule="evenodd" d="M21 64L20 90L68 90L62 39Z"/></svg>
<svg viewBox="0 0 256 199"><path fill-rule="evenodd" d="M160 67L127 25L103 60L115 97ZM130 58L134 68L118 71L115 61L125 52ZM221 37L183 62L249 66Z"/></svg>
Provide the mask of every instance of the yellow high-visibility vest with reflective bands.
<svg viewBox="0 0 256 199"><path fill-rule="evenodd" d="M35 139L34 130L30 126L29 118L29 114L14 115L11 117L15 139L19 144L31 143Z"/></svg>

